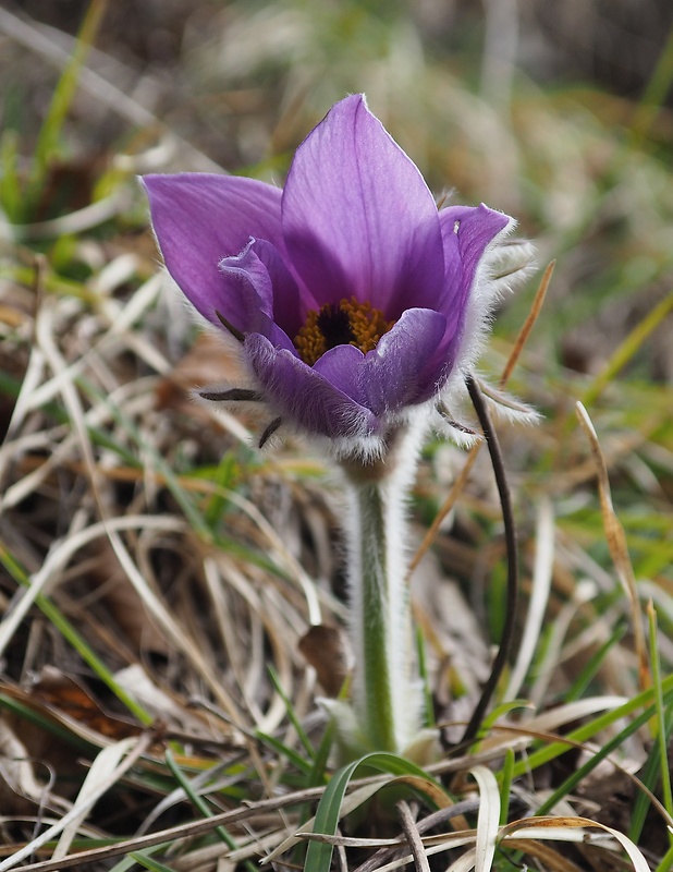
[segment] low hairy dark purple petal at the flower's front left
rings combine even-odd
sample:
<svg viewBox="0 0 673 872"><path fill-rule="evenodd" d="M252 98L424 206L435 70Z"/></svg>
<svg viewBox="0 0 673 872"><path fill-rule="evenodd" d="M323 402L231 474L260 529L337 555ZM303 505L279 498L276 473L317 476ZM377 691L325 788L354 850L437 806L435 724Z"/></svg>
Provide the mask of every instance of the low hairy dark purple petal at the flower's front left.
<svg viewBox="0 0 673 872"><path fill-rule="evenodd" d="M309 433L329 438L370 436L375 415L285 349L259 335L246 337L253 371L278 412Z"/></svg>

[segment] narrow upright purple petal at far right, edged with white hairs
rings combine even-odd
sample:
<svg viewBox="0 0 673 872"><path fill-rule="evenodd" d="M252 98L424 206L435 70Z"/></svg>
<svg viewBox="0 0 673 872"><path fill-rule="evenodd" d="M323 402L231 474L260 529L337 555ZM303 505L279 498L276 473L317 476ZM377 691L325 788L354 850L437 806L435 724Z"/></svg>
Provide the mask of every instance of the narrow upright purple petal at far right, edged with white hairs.
<svg viewBox="0 0 673 872"><path fill-rule="evenodd" d="M491 242L512 219L488 206L450 206L439 214L446 270L445 296L440 306L449 332L458 338L477 267Z"/></svg>

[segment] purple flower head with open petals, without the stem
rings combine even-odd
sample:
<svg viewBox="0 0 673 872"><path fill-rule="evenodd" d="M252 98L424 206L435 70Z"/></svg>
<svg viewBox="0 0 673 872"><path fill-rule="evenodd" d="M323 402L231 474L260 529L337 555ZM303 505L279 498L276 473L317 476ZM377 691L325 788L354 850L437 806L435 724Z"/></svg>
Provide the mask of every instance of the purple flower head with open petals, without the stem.
<svg viewBox="0 0 673 872"><path fill-rule="evenodd" d="M475 310L485 255L511 219L484 205L438 211L364 96L307 136L283 190L206 173L144 181L168 271L243 337L283 422L382 444L464 370L466 332L487 314Z"/></svg>

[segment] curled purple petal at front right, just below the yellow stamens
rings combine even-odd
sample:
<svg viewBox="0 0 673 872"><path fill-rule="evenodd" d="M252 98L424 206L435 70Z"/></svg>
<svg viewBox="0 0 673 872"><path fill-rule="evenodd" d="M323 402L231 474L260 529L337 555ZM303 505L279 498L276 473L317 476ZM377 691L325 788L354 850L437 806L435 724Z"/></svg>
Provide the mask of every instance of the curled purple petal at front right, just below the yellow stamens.
<svg viewBox="0 0 673 872"><path fill-rule="evenodd" d="M453 361L446 318L428 308L409 308L365 356L362 384L376 415L429 400L442 387Z"/></svg>

